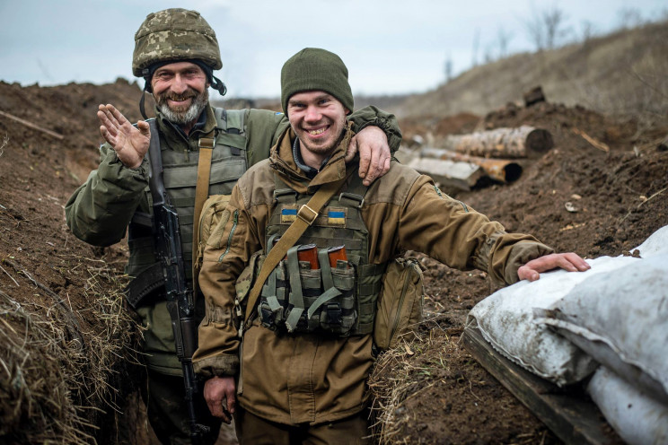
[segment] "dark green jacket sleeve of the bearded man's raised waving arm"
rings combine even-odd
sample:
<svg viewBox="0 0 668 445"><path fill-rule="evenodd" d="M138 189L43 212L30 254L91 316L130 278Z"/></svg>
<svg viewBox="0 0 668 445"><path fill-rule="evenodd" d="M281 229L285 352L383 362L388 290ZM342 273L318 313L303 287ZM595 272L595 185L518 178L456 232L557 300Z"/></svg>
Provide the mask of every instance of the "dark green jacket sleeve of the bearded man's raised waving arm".
<svg viewBox="0 0 668 445"><path fill-rule="evenodd" d="M128 169L109 144L103 144L100 153L100 166L69 198L65 214L67 227L76 238L95 246L110 246L123 239L145 196L148 161Z"/></svg>

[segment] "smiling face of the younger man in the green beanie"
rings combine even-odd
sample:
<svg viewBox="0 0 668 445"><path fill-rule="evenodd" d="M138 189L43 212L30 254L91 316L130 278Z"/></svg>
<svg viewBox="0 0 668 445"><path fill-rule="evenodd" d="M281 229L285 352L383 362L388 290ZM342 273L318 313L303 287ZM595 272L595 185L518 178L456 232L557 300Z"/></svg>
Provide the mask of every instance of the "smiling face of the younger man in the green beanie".
<svg viewBox="0 0 668 445"><path fill-rule="evenodd" d="M312 154L302 150L304 161L311 165L308 158L322 161L336 148L346 128L348 110L330 93L314 91L290 97L286 113L301 146Z"/></svg>

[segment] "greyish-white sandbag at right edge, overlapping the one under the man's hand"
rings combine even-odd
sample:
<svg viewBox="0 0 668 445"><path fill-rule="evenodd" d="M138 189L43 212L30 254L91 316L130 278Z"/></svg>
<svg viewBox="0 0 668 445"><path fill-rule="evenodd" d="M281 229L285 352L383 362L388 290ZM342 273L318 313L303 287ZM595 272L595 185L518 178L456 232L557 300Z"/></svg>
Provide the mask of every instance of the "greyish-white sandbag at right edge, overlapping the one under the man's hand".
<svg viewBox="0 0 668 445"><path fill-rule="evenodd" d="M537 322L668 406L668 254L578 284Z"/></svg>

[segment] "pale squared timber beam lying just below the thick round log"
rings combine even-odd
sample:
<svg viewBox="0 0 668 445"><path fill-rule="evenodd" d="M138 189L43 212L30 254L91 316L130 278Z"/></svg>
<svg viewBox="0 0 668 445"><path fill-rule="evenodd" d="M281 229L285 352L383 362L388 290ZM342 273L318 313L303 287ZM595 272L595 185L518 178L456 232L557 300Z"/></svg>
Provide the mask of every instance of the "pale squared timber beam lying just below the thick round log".
<svg viewBox="0 0 668 445"><path fill-rule="evenodd" d="M470 190L484 176L479 165L470 162L415 158L408 165L436 182L462 190Z"/></svg>

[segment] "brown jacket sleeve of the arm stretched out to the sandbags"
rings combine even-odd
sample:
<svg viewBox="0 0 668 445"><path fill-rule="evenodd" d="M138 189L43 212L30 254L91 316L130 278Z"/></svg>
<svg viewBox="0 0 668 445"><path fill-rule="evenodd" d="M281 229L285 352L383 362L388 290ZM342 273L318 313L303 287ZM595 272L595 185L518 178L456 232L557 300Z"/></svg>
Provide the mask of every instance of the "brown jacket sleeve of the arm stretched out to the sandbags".
<svg viewBox="0 0 668 445"><path fill-rule="evenodd" d="M554 250L532 235L507 233L470 206L445 195L420 176L400 214L400 249L423 252L446 266L478 268L497 284L518 281L517 269Z"/></svg>

